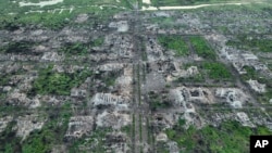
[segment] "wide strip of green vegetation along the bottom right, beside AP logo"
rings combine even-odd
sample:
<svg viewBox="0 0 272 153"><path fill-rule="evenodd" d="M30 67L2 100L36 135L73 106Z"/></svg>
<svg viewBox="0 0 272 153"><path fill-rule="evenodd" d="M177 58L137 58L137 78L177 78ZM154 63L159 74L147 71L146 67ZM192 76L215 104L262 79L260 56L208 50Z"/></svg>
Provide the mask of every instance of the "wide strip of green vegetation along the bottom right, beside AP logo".
<svg viewBox="0 0 272 153"><path fill-rule="evenodd" d="M202 129L196 129L193 126L184 129L183 125L184 122L181 120L173 129L168 129L165 132L169 139L177 142L180 148L185 148L184 153L249 152L249 136L271 135L268 128L244 127L238 122L225 122L219 127L207 126Z"/></svg>

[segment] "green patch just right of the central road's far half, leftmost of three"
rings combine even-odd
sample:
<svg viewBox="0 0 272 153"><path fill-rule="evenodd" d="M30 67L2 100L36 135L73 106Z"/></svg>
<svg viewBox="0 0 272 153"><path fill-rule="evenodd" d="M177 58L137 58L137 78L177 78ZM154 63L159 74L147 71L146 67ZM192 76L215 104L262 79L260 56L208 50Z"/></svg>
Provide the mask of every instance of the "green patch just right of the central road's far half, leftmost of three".
<svg viewBox="0 0 272 153"><path fill-rule="evenodd" d="M160 36L159 42L166 49L174 50L176 55L188 55L188 46L181 36Z"/></svg>

